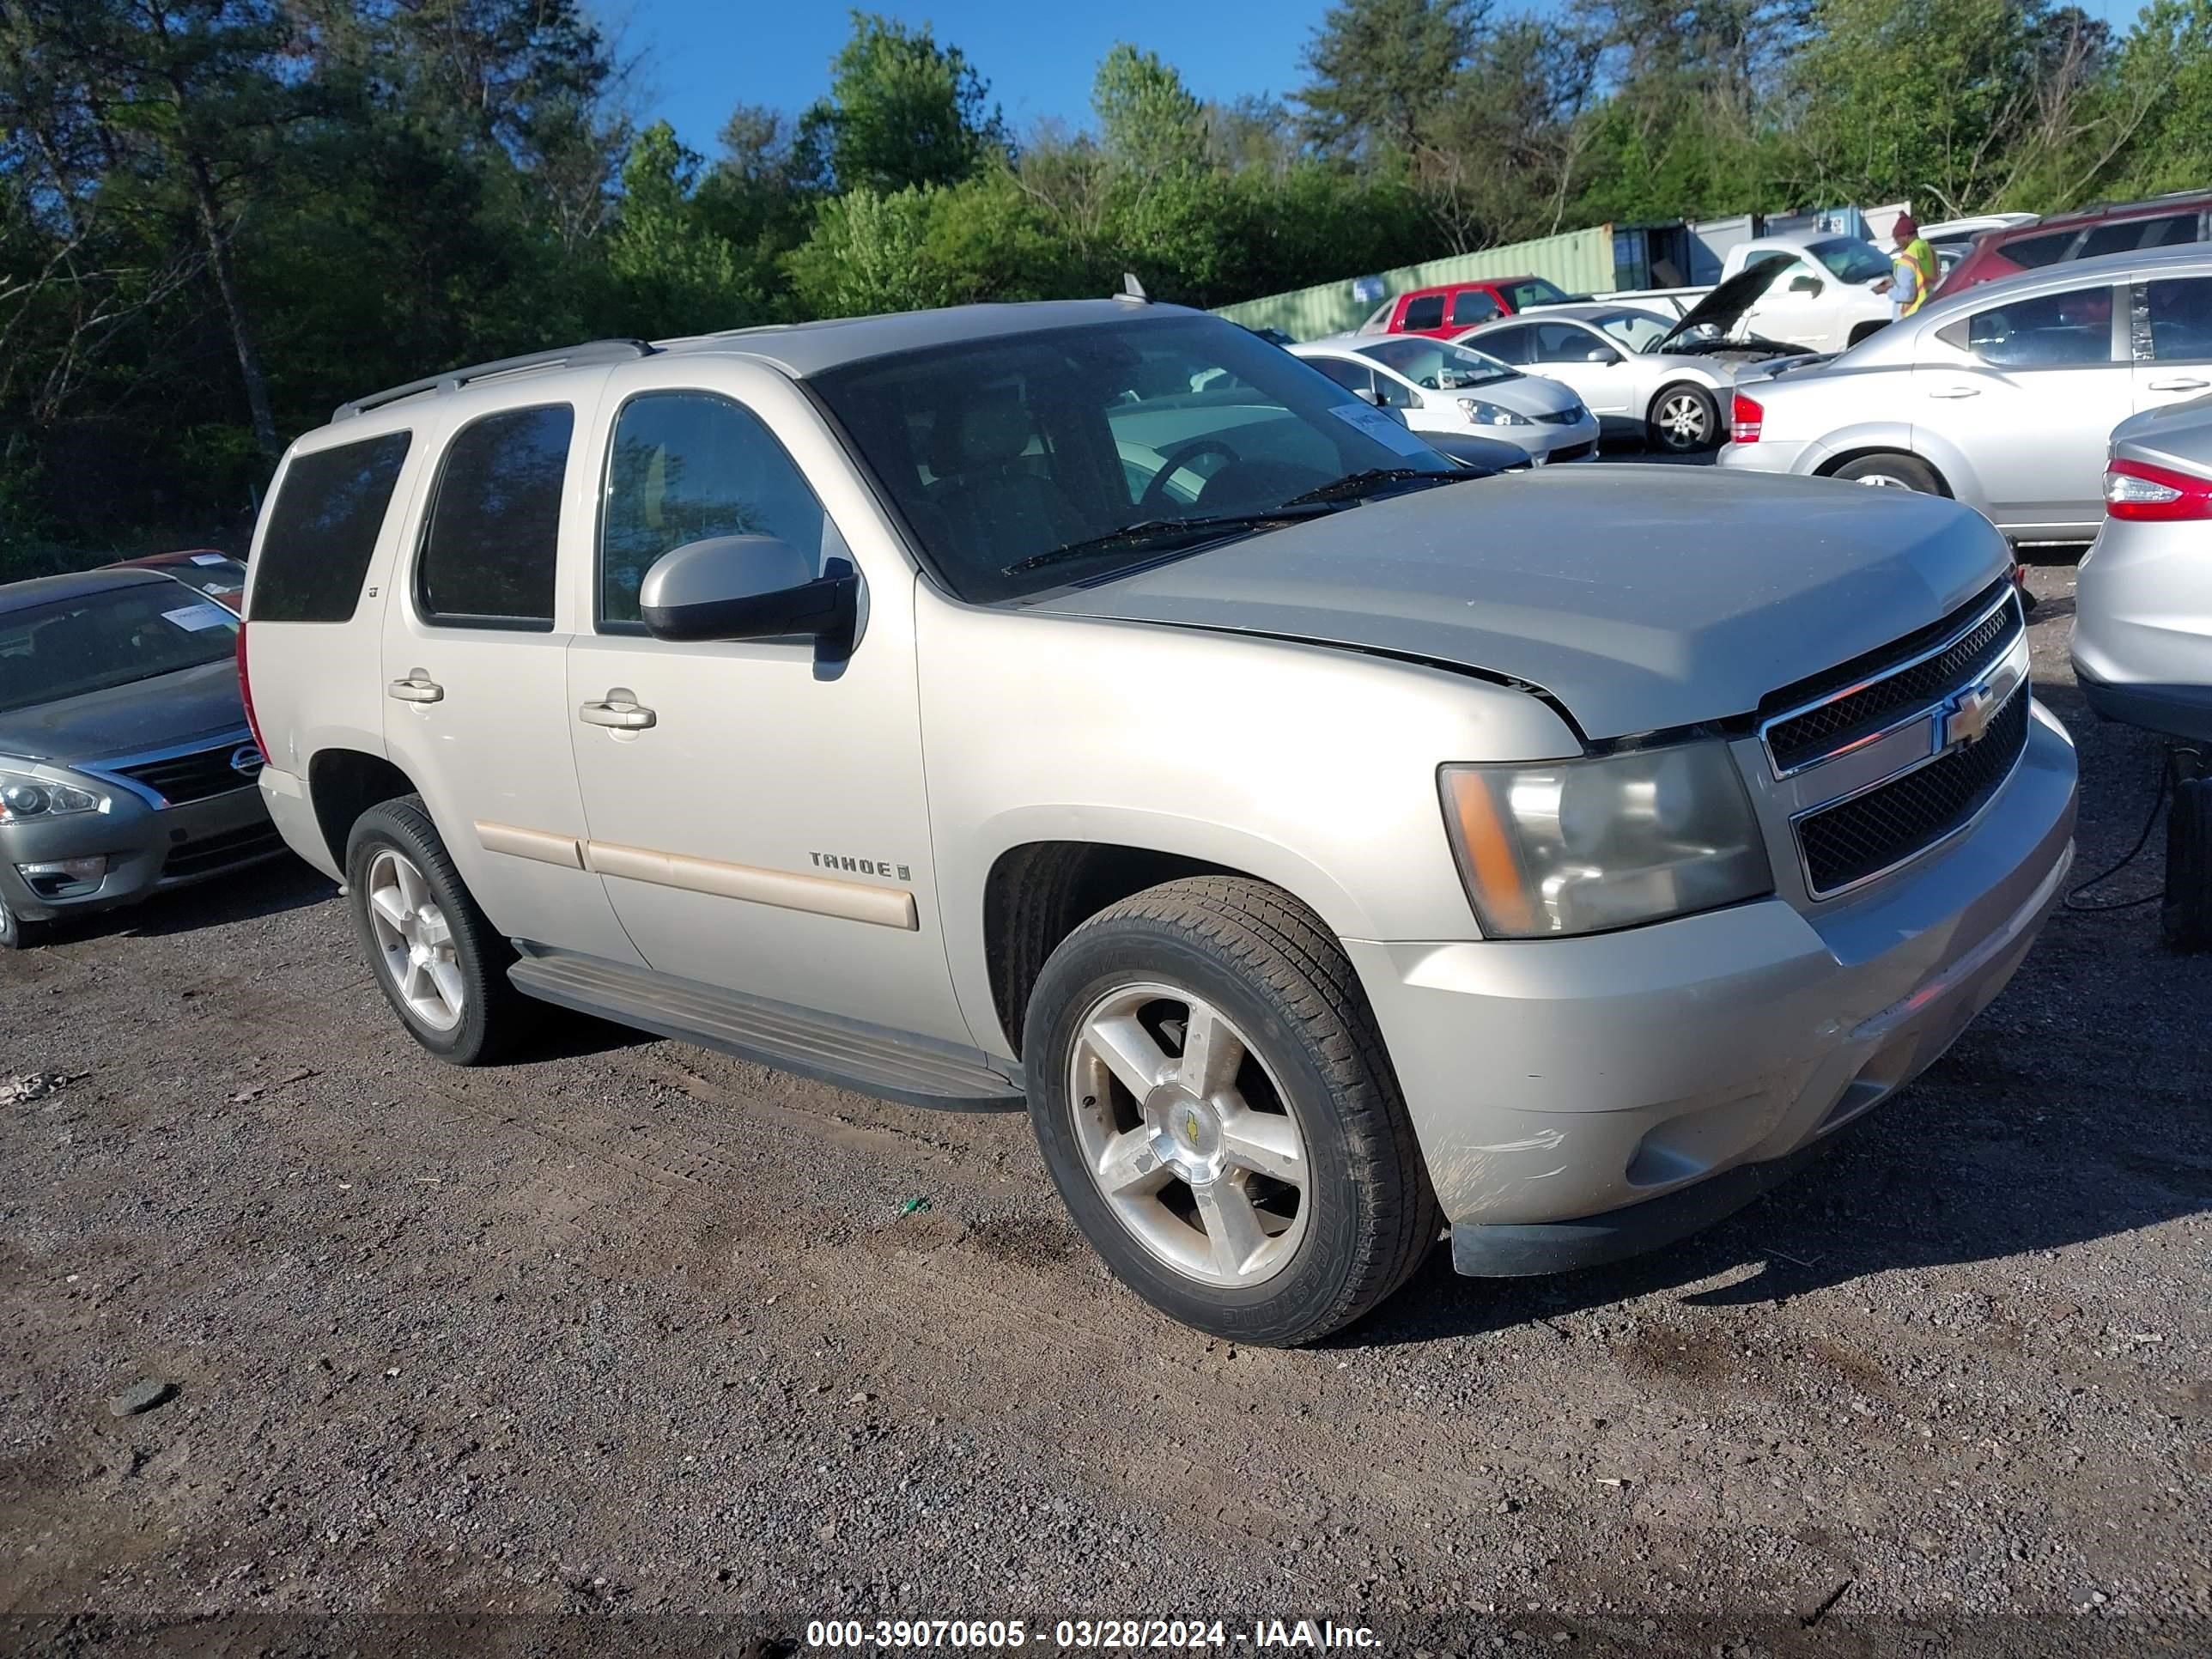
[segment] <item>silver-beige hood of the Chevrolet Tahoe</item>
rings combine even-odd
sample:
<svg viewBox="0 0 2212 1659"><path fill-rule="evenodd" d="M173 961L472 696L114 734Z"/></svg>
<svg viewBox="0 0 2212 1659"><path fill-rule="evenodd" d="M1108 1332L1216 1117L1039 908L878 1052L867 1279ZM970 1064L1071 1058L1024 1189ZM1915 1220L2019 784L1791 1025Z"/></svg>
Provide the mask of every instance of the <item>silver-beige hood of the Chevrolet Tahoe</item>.
<svg viewBox="0 0 2212 1659"><path fill-rule="evenodd" d="M1473 668L1610 739L1750 714L2008 568L1995 526L1938 495L1546 467L1290 524L1035 608Z"/></svg>

